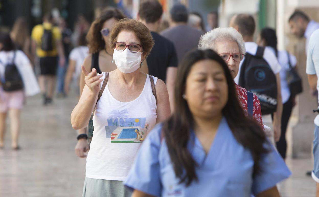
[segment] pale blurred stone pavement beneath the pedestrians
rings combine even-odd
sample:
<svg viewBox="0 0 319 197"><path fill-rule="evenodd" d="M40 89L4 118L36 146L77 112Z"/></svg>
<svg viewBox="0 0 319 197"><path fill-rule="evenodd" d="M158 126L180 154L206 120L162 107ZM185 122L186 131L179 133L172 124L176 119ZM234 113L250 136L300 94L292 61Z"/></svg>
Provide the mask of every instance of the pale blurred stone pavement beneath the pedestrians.
<svg viewBox="0 0 319 197"><path fill-rule="evenodd" d="M7 129L0 150L0 196L77 197L82 194L85 159L74 153L77 133L70 124L76 96L41 105L41 96L28 98L22 112L21 150L11 150ZM9 121L8 121L9 123ZM283 197L313 197L315 182L305 176L311 159L287 159L291 178L279 184Z"/></svg>

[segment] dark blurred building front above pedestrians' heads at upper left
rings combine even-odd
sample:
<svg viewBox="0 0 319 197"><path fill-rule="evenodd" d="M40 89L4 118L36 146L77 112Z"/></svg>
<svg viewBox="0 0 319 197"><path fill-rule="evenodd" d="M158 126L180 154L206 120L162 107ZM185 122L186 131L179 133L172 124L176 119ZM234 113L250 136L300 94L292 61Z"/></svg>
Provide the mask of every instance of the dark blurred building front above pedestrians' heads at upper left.
<svg viewBox="0 0 319 197"><path fill-rule="evenodd" d="M10 29L17 18L24 17L31 29L42 22L46 12L55 9L53 14L62 16L72 28L79 15L92 21L96 9L115 5L114 0L0 0L0 26Z"/></svg>

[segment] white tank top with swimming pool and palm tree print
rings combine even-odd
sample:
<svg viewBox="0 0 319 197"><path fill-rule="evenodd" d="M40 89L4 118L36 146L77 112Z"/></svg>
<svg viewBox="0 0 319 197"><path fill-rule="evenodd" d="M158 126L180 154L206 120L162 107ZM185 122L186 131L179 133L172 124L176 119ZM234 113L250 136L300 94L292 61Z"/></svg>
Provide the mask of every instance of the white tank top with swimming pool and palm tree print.
<svg viewBox="0 0 319 197"><path fill-rule="evenodd" d="M102 74L104 80L105 72ZM156 100L146 75L142 93L130 102L116 100L108 86L105 87L93 116L94 132L86 158L86 177L126 179L141 142L156 124ZM156 84L157 78L153 79Z"/></svg>

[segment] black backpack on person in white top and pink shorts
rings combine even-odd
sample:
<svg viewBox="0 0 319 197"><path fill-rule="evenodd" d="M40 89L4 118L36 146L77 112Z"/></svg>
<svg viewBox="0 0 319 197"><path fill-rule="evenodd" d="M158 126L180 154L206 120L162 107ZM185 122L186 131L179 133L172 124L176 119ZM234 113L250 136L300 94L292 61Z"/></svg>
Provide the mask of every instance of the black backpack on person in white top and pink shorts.
<svg viewBox="0 0 319 197"><path fill-rule="evenodd" d="M22 77L16 64L14 63L15 57L16 52L14 52L12 62L7 63L4 68L4 79L2 79L2 86L6 92L23 89Z"/></svg>

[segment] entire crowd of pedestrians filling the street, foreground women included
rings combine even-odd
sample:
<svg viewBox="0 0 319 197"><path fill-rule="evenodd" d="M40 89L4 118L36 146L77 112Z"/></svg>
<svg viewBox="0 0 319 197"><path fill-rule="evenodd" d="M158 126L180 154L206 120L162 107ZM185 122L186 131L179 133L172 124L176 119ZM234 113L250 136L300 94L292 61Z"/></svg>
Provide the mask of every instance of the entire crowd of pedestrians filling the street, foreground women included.
<svg viewBox="0 0 319 197"><path fill-rule="evenodd" d="M159 1L145 0L136 20L106 8L71 28L48 12L31 31L19 18L1 32L0 148L8 113L11 146L20 148L26 96L41 93L47 106L73 92L83 196L280 196L276 184L291 174L287 125L302 92L296 57L277 49L275 29L255 42L249 14L225 28L217 12L205 26L183 4L168 25L162 15ZM307 39L309 84L319 89L319 23L302 11L287 22ZM319 188L319 117L315 125Z"/></svg>

